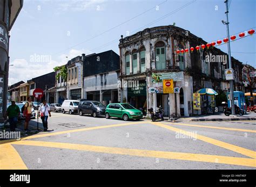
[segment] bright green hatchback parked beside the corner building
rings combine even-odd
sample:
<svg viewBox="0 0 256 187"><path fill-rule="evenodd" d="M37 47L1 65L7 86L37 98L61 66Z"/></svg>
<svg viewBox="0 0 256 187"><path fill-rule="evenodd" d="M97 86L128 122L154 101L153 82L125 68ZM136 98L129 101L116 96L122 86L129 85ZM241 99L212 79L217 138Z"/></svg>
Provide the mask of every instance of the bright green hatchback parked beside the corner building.
<svg viewBox="0 0 256 187"><path fill-rule="evenodd" d="M106 119L110 117L123 118L125 121L129 119L140 120L143 118L143 113L127 103L111 103L106 107L105 117Z"/></svg>

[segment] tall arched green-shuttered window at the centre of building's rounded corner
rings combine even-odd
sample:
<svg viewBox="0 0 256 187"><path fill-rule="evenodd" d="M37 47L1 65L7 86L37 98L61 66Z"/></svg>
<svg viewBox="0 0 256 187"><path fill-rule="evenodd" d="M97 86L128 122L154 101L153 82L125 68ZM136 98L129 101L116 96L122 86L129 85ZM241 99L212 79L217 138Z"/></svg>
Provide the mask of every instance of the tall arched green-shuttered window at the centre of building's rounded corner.
<svg viewBox="0 0 256 187"><path fill-rule="evenodd" d="M166 68L165 44L159 41L156 44L156 68L157 70Z"/></svg>

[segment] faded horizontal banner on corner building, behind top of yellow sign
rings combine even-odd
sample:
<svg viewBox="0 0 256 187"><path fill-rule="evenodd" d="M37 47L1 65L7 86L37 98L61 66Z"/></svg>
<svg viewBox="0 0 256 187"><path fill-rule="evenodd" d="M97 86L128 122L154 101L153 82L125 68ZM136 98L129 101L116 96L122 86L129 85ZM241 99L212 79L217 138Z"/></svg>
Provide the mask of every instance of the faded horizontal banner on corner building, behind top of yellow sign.
<svg viewBox="0 0 256 187"><path fill-rule="evenodd" d="M152 73L152 78L151 78L152 83L163 82L163 80L165 79L172 79L173 81L183 81L184 80L183 71L160 73L160 74Z"/></svg>

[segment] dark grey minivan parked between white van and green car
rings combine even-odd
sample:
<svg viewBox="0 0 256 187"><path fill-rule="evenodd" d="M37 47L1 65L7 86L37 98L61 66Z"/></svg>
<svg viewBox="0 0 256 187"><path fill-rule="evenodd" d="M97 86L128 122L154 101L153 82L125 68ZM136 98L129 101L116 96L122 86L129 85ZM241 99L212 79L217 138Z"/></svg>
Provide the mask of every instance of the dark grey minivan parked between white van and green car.
<svg viewBox="0 0 256 187"><path fill-rule="evenodd" d="M79 115L91 114L93 117L105 116L106 106L95 100L82 101L78 105Z"/></svg>

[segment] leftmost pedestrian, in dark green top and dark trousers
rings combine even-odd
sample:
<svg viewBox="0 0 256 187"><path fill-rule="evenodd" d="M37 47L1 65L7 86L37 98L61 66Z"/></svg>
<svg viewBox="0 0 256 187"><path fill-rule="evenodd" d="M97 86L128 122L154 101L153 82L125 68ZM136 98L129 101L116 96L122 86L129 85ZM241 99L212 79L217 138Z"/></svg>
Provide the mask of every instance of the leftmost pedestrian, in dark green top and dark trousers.
<svg viewBox="0 0 256 187"><path fill-rule="evenodd" d="M11 102L11 105L7 108L6 116L9 118L10 130L15 131L17 127L18 116L21 114L19 107L15 104L15 101Z"/></svg>

